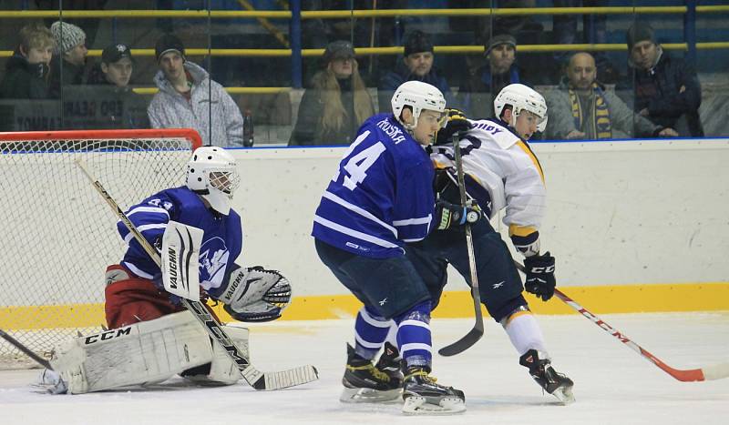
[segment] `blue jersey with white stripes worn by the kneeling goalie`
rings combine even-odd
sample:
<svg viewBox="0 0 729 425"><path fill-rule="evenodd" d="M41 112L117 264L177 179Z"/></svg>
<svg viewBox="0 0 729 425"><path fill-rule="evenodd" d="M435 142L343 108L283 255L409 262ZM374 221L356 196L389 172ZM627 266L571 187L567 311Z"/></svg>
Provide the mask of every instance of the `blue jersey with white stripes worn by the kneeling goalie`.
<svg viewBox="0 0 729 425"><path fill-rule="evenodd" d="M188 187L162 190L127 211L127 217L152 246L161 243L169 220L200 228L204 234L200 246L200 286L219 288L228 268L241 254L243 231L241 216L231 209L228 216L210 211L202 199ZM147 255L137 239L121 221L119 235L128 249L121 264L139 278L160 278L159 267Z"/></svg>

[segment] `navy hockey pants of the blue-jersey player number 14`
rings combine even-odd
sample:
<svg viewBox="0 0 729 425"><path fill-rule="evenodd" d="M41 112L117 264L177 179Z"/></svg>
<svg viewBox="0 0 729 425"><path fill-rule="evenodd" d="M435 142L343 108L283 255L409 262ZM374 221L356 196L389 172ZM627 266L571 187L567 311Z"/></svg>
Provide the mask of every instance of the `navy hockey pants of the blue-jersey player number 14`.
<svg viewBox="0 0 729 425"><path fill-rule="evenodd" d="M368 258L314 239L316 252L334 276L362 303L393 319L430 299L426 284L405 256Z"/></svg>

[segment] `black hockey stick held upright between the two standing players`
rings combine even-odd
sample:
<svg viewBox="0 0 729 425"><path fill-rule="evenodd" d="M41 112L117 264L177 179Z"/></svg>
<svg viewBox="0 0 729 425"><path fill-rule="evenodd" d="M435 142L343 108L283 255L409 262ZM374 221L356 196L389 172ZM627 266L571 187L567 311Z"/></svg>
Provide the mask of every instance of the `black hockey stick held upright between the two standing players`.
<svg viewBox="0 0 729 425"><path fill-rule="evenodd" d="M466 207L466 185L463 177L463 159L461 157L461 147L459 145L460 137L458 134L453 135L453 152L456 156L456 173L458 178L458 190L461 196L461 206ZM484 317L481 313L481 294L478 290L478 277L476 275L476 256L473 252L473 234L471 233L471 224L466 223L466 248L468 251L468 268L471 270L471 297L473 298L473 309L476 313L476 323L473 329L461 339L453 344L447 345L442 349L438 349L441 356L455 356L458 353L466 351L477 343L484 335Z"/></svg>

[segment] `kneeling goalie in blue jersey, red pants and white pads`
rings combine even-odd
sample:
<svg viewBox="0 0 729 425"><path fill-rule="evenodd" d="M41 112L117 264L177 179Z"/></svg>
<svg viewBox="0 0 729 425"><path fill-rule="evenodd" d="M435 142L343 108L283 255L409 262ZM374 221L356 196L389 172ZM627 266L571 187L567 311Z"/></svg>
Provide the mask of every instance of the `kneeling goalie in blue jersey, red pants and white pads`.
<svg viewBox="0 0 729 425"><path fill-rule="evenodd" d="M291 287L275 270L241 268L241 217L231 209L240 183L235 159L221 147L199 147L188 163L187 185L162 190L130 207L129 220L149 243L161 239L174 220L203 230L200 287L203 298L223 303L233 319L266 321L281 317ZM53 370L41 385L55 393L112 390L159 382L180 374L203 384L232 384L239 369L200 323L167 293L157 264L121 222L128 244L124 258L106 275L108 331L70 339L54 349ZM225 326L243 352L248 330Z"/></svg>

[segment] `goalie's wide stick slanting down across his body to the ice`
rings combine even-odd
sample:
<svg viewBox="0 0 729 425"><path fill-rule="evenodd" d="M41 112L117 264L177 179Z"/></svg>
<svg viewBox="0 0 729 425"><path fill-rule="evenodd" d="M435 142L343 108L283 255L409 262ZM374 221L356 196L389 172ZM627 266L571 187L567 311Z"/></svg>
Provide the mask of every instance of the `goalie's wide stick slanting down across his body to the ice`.
<svg viewBox="0 0 729 425"><path fill-rule="evenodd" d="M149 245L147 239L142 236L139 230L134 226L134 223L132 223L127 215L124 214L124 211L121 210L114 198L108 194L104 186L101 185L101 182L92 176L91 172L80 158L77 159L76 164L91 181L91 184L97 189L98 194L107 201L108 206L111 207L121 222L124 223L124 226L129 229L134 238L136 238L142 248L144 248L149 255L149 258L152 258L159 267L161 264L161 258L159 257L157 250ZM235 346L232 340L221 328L221 323L218 319L215 319L210 314L210 311L205 308L204 304L202 304L199 300L180 300L182 305L185 306L186 309L190 310L192 316L194 316L195 319L198 319L202 327L210 335L210 338L215 339L215 341L221 345L222 349L225 349L238 369L241 371L243 379L245 379L245 381L248 382L248 384L255 390L280 390L283 388L303 385L319 379L319 372L311 365L299 366L298 368L277 372L262 372L261 370L254 368L249 359L243 356L241 350Z"/></svg>

